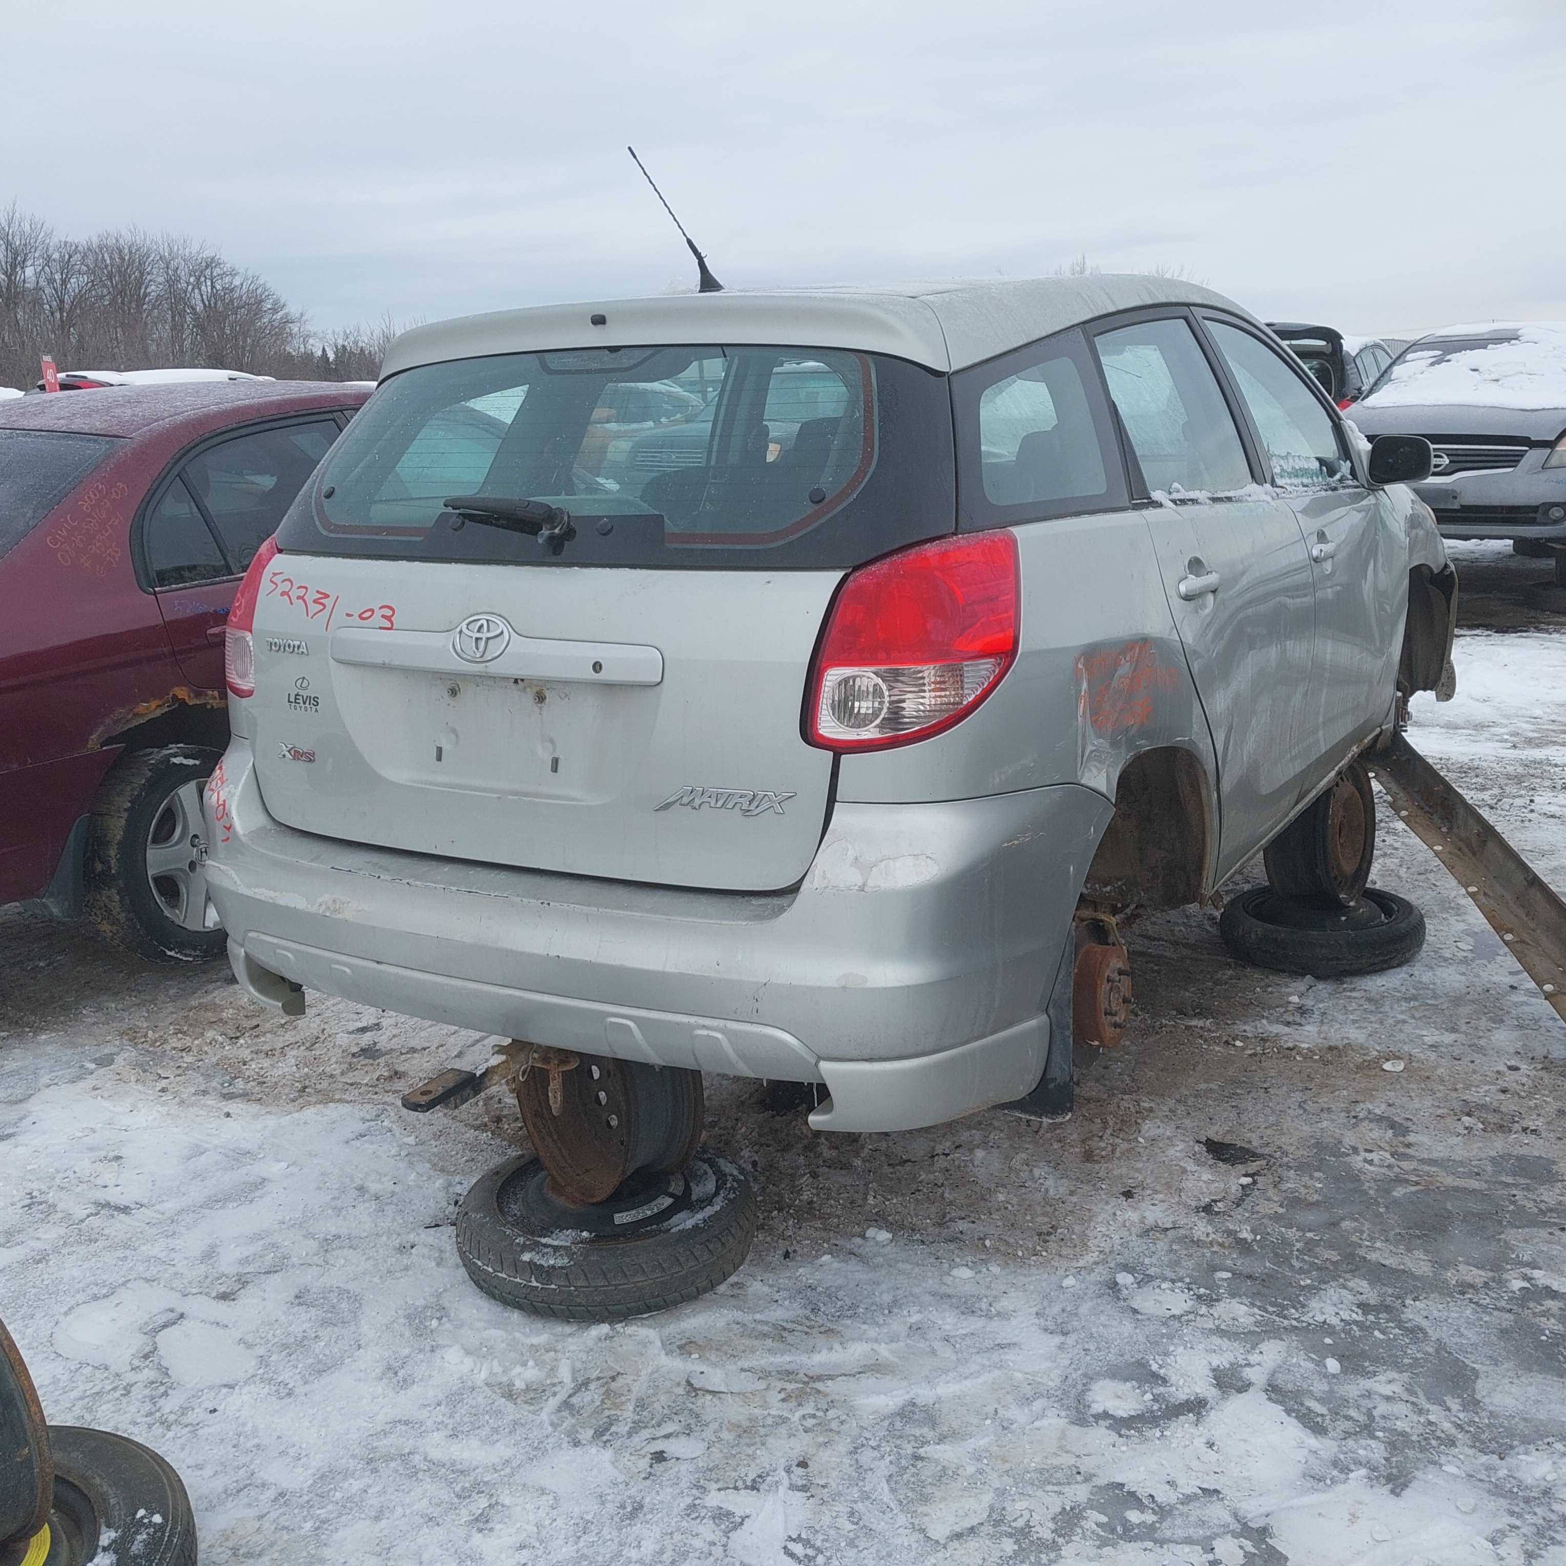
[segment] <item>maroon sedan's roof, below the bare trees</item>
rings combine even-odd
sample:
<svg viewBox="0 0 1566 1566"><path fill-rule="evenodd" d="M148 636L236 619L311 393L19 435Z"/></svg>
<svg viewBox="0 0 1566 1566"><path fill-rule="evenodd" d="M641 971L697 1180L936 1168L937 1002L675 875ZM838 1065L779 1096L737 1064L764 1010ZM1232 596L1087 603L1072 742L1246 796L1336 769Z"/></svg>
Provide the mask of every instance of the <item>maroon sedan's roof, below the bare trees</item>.
<svg viewBox="0 0 1566 1566"><path fill-rule="evenodd" d="M0 402L0 428L144 435L189 424L191 432L199 434L222 423L265 418L268 413L351 407L368 395L362 387L335 381L182 381L152 387L36 392Z"/></svg>

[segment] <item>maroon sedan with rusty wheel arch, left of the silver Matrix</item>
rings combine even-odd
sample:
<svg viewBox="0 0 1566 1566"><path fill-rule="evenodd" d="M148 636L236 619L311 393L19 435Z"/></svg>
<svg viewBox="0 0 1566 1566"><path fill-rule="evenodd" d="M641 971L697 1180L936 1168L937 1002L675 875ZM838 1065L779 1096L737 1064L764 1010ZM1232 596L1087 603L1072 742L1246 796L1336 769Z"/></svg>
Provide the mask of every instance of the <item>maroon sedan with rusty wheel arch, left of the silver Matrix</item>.
<svg viewBox="0 0 1566 1566"><path fill-rule="evenodd" d="M222 949L202 788L251 556L368 392L111 387L0 402L0 904L146 957Z"/></svg>

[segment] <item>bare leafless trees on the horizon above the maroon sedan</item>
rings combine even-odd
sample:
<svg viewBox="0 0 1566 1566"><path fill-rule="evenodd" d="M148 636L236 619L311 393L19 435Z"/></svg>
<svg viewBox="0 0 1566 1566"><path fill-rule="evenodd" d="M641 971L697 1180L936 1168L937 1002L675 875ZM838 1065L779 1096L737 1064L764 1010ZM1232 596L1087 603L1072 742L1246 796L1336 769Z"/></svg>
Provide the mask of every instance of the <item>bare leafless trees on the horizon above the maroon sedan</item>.
<svg viewBox="0 0 1566 1566"><path fill-rule="evenodd" d="M210 244L141 229L88 240L0 208L0 385L61 370L246 370L288 381L374 381L390 316L316 335L257 272Z"/></svg>

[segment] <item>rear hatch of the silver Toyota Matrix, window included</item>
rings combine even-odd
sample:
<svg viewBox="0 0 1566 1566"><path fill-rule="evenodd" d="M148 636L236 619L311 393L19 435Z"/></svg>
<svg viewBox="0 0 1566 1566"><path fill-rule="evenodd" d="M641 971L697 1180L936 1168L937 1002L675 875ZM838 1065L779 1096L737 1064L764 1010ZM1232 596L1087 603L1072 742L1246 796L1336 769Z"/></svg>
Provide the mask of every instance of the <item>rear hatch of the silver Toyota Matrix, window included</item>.
<svg viewBox="0 0 1566 1566"><path fill-rule="evenodd" d="M841 395L785 446L767 415L800 363ZM628 376L705 421L702 464L650 470L598 438ZM443 506L459 495L554 506L572 536ZM420 853L792 885L830 808L832 756L803 741L800 708L832 595L954 517L944 382L900 362L659 348L404 371L265 572L251 733L266 805Z"/></svg>

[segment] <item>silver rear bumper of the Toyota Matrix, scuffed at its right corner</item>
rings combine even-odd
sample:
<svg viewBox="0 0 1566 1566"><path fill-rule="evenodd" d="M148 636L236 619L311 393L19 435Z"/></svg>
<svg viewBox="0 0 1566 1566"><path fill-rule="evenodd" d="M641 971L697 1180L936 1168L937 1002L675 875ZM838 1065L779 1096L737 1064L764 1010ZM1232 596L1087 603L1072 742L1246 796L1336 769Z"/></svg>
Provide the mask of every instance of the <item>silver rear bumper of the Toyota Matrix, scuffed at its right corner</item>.
<svg viewBox="0 0 1566 1566"><path fill-rule="evenodd" d="M208 888L240 982L590 1054L824 1082L824 1129L936 1124L1029 1092L1046 988L1112 806L1079 786L838 805L789 893L694 893L362 847L224 761ZM208 813L211 803L208 802Z"/></svg>

